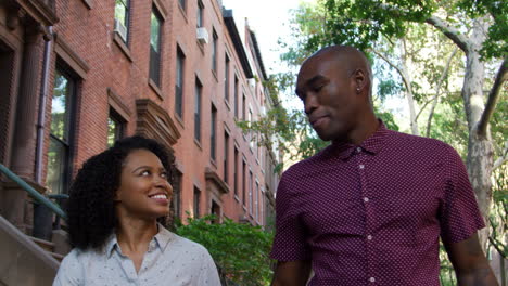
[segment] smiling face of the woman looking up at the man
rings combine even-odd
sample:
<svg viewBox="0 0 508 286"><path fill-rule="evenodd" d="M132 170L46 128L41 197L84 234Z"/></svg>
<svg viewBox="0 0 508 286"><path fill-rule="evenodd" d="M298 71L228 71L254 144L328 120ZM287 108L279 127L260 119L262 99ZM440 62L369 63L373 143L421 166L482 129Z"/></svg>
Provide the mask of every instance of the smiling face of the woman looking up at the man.
<svg viewBox="0 0 508 286"><path fill-rule="evenodd" d="M135 150L122 168L116 191L118 216L156 219L167 216L173 187L158 157L148 150Z"/></svg>

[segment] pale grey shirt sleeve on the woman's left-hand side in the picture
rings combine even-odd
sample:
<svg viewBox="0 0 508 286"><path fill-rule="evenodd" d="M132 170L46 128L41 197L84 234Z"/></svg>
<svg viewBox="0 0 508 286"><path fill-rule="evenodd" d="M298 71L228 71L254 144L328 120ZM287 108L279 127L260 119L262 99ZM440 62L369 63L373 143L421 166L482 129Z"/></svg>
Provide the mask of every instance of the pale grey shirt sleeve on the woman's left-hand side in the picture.
<svg viewBox="0 0 508 286"><path fill-rule="evenodd" d="M62 261L53 281L53 286L85 285L82 266L77 250L72 250Z"/></svg>

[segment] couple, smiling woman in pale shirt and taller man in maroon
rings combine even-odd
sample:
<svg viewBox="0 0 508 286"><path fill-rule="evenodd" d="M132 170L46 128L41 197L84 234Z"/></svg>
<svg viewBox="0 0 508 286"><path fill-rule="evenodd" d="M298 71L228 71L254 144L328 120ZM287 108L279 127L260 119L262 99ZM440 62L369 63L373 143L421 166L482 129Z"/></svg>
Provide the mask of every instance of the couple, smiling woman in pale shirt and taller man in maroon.
<svg viewBox="0 0 508 286"><path fill-rule="evenodd" d="M302 65L296 93L332 144L281 179L272 285L440 285L440 236L459 285L497 285L478 243L483 219L460 157L376 118L361 52L318 51ZM156 222L172 191L162 150L124 139L84 165L71 190L76 248L55 285L220 285L203 247Z"/></svg>

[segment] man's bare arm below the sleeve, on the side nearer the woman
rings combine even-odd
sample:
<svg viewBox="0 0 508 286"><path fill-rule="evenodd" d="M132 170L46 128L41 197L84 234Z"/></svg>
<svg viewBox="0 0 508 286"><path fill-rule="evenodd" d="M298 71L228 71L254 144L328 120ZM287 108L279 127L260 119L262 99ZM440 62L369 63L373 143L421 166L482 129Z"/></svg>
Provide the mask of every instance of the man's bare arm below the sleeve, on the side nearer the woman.
<svg viewBox="0 0 508 286"><path fill-rule="evenodd" d="M271 286L305 286L310 275L310 261L277 262Z"/></svg>

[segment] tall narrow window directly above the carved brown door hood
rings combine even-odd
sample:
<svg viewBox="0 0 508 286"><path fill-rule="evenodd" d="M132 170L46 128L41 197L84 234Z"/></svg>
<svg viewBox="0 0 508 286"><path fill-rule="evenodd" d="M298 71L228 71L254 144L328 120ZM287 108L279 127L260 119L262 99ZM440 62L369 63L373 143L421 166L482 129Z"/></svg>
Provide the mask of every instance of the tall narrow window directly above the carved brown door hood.
<svg viewBox="0 0 508 286"><path fill-rule="evenodd" d="M150 78L161 86L161 26L162 17L157 10L152 9L150 17Z"/></svg>

